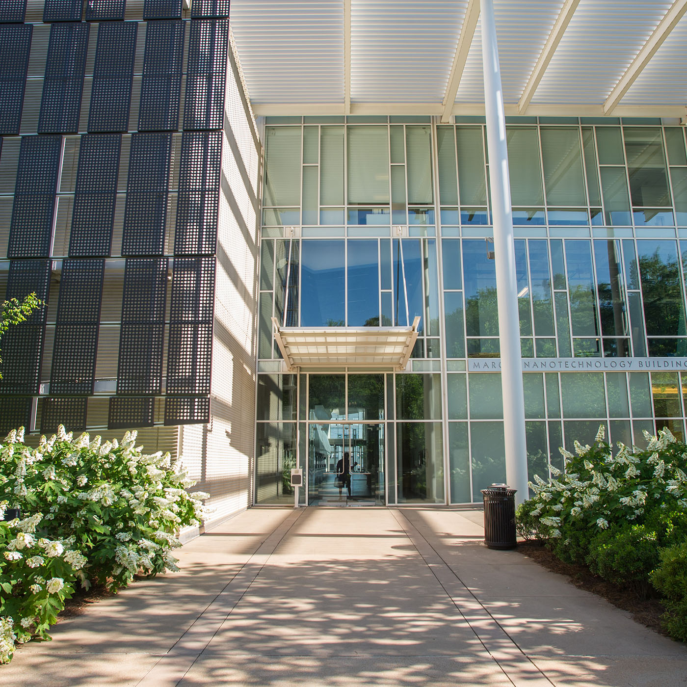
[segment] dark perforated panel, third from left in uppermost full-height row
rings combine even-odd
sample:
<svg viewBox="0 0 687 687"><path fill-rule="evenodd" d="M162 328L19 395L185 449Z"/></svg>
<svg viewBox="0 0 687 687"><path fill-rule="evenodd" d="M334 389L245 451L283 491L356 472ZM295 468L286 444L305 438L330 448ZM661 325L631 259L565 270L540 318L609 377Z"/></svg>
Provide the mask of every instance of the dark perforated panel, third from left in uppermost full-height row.
<svg viewBox="0 0 687 687"><path fill-rule="evenodd" d="M128 131L137 27L135 21L98 26L89 131Z"/></svg>

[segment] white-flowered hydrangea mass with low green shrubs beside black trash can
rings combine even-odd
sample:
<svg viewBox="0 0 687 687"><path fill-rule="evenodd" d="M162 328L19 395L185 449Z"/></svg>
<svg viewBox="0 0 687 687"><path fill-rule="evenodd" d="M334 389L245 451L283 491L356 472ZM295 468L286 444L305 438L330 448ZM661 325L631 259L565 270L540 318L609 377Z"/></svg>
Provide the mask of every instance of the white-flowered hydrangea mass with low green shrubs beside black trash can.
<svg viewBox="0 0 687 687"><path fill-rule="evenodd" d="M519 534L641 598L653 585L666 600L666 629L687 640L687 580L674 579L687 569L687 445L668 429L645 433L646 449L618 442L613 453L604 438L602 426L593 446L561 449L564 473L551 466L549 480L534 477Z"/></svg>

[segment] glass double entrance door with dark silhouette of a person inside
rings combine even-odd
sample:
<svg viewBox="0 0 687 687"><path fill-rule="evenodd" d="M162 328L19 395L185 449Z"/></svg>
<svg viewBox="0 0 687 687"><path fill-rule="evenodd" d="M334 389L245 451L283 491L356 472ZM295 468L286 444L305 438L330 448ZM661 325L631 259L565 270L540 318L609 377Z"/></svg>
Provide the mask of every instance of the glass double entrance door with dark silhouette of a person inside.
<svg viewBox="0 0 687 687"><path fill-rule="evenodd" d="M385 504L383 423L311 423L308 447L309 505Z"/></svg>

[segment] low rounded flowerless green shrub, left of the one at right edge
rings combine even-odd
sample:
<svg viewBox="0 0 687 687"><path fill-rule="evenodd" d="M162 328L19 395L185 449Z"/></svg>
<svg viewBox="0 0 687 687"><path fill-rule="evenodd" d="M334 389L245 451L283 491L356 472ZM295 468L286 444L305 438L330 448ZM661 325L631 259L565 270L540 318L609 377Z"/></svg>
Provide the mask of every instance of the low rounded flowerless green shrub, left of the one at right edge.
<svg viewBox="0 0 687 687"><path fill-rule="evenodd" d="M641 598L649 592L649 574L659 560L657 536L644 525L621 523L596 534L589 543L589 570L627 585Z"/></svg>

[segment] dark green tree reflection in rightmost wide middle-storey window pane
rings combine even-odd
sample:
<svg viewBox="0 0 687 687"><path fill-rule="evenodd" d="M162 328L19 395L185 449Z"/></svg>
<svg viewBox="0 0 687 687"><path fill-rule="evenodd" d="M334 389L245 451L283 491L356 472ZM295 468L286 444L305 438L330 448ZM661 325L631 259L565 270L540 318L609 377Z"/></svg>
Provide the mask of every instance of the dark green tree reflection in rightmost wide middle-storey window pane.
<svg viewBox="0 0 687 687"><path fill-rule="evenodd" d="M640 274L646 333L684 335L685 311L677 258L663 258L656 249L651 256L640 256Z"/></svg>

